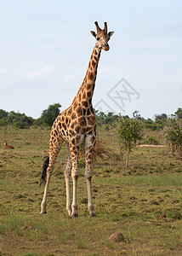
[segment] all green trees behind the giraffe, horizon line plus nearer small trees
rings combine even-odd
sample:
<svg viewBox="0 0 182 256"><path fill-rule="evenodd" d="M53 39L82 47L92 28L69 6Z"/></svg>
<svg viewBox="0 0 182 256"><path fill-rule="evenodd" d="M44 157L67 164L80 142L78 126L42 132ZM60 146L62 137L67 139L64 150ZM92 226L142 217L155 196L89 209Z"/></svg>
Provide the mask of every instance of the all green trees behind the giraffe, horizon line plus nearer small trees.
<svg viewBox="0 0 182 256"><path fill-rule="evenodd" d="M53 125L54 120L60 113L60 103L49 105L43 110L40 118L33 119L27 117L25 113L7 112L0 109L0 126L14 125L17 129L25 129L31 126ZM118 127L118 138L121 150L126 152L126 167L128 168L128 156L134 147L143 139L143 130L163 130L165 138L171 146L171 152L177 153L182 159L182 108L170 115L166 113L156 114L155 119L144 119L139 111L134 111L133 118L117 115L115 113L104 113L94 110L98 125L105 125L105 129L110 129L115 125ZM156 143L155 137L149 137L147 143Z"/></svg>

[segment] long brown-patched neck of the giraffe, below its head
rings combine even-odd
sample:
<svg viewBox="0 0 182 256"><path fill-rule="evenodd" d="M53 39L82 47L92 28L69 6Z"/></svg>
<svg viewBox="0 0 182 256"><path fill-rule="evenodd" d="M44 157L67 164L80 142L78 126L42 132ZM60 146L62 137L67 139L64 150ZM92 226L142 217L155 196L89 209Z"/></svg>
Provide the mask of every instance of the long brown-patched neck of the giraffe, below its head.
<svg viewBox="0 0 182 256"><path fill-rule="evenodd" d="M83 108L89 108L92 104L92 97L94 94L94 85L97 77L97 68L100 61L101 49L95 44L93 53L91 55L88 71L83 79L82 85L77 92L77 96L73 102L81 102Z"/></svg>

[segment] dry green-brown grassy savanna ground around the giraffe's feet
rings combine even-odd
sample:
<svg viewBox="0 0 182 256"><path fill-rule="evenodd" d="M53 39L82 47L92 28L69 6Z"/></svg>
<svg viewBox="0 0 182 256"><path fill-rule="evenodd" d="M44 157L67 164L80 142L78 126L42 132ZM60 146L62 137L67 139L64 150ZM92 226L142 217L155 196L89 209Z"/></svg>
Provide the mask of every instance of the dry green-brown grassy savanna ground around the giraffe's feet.
<svg viewBox="0 0 182 256"><path fill-rule="evenodd" d="M119 152L116 131L98 129ZM3 149L7 140L14 150ZM48 193L48 214L39 215L39 181L49 130L0 128L0 255L181 255L182 161L168 148L136 148L124 159L93 164L97 218L88 218L84 168L78 179L78 218L65 210L62 148ZM122 232L124 241L109 241Z"/></svg>

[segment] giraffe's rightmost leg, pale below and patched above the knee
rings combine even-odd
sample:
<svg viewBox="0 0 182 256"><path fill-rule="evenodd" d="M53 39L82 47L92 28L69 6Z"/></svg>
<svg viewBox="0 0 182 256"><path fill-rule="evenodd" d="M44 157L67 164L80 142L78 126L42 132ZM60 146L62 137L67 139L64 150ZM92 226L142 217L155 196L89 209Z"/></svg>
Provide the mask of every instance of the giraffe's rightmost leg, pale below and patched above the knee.
<svg viewBox="0 0 182 256"><path fill-rule="evenodd" d="M85 178L87 183L88 189L88 211L89 216L95 217L96 213L94 212L94 204L92 201L92 169L91 169L91 162L92 162L92 154L94 151L94 143L95 143L95 136L88 136L85 141L85 158L86 158L86 169L85 169Z"/></svg>

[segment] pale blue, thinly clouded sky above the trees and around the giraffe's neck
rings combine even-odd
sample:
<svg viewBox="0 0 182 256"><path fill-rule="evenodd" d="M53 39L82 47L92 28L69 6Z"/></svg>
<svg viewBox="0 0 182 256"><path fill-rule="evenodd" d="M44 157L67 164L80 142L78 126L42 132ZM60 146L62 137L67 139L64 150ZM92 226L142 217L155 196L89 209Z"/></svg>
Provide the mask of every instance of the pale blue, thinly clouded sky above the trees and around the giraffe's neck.
<svg viewBox="0 0 182 256"><path fill-rule="evenodd" d="M102 50L93 106L142 117L182 108L182 1L0 0L0 109L38 118L68 108L94 49L94 21L114 31Z"/></svg>

